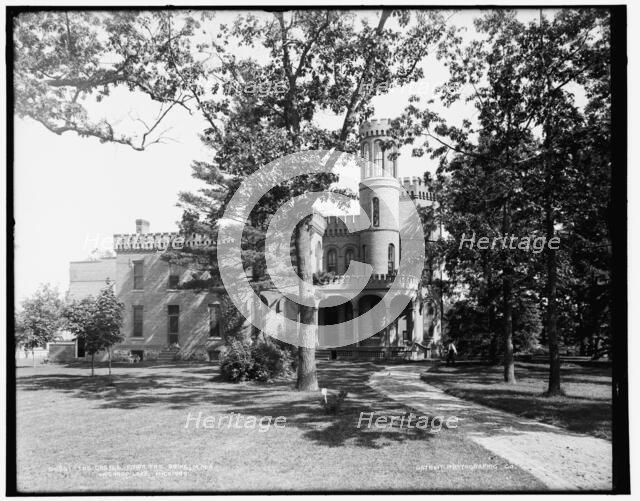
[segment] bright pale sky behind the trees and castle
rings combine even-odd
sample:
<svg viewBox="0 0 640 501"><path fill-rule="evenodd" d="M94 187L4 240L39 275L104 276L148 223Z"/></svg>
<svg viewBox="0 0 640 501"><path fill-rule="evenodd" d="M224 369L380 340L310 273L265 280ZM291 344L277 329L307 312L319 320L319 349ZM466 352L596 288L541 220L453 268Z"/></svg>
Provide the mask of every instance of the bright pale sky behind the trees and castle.
<svg viewBox="0 0 640 501"><path fill-rule="evenodd" d="M524 11L523 17L533 14ZM471 27L477 15L478 11L461 11L451 22ZM447 69L435 56L427 57L423 68L426 77L422 81L374 98L375 118L398 116L411 94L435 97L433 90L447 79ZM95 110L111 120L131 120L150 117L157 112L157 105L144 96L117 90ZM473 114L471 105L465 103L441 111L453 124ZM334 128L341 124L339 120L331 115L317 117L319 125ZM209 158L211 152L198 138L205 124L197 115L172 111L167 123L172 140L138 152L73 133L58 136L30 119L15 119L18 302L43 283L57 286L64 294L69 262L86 259L95 248L112 248L113 234L135 232L135 219L150 221L152 232L176 230L181 217L176 206L178 193L202 186L191 177L191 163ZM401 177L435 168L435 161L411 158L410 148L401 151L398 164Z"/></svg>

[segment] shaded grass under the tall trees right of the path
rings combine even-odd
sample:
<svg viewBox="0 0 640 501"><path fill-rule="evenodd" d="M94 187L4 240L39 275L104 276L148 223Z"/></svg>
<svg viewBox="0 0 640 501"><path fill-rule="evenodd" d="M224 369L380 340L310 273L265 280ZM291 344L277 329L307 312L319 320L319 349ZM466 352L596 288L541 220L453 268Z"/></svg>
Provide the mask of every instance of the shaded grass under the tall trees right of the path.
<svg viewBox="0 0 640 501"><path fill-rule="evenodd" d="M516 363L517 384L502 380L501 366L458 362L433 366L422 378L451 395L544 423L611 440L611 369L564 364L565 396L546 397L548 368Z"/></svg>

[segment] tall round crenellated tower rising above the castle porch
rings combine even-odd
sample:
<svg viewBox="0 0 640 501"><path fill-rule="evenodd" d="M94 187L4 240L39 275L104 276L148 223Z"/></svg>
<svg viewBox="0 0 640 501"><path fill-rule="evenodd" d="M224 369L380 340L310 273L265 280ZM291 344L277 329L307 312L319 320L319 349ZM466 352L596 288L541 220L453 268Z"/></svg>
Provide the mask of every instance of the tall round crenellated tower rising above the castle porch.
<svg viewBox="0 0 640 501"><path fill-rule="evenodd" d="M360 232L359 253L362 261L379 275L395 273L400 255L401 188L396 179L397 159L392 155L397 150L385 144L390 139L389 132L387 119L371 120L360 127L360 154L366 160L359 187L360 206L371 225Z"/></svg>

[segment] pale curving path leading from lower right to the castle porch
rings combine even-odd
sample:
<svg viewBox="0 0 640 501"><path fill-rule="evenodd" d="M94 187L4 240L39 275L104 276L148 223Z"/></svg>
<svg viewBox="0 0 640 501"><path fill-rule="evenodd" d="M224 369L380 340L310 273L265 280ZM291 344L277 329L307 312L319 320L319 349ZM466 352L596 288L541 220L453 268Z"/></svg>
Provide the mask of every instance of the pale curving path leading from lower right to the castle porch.
<svg viewBox="0 0 640 501"><path fill-rule="evenodd" d="M549 489L610 490L611 442L520 418L448 395L420 379L424 367L388 366L372 388L422 414L458 418L470 439L543 482Z"/></svg>

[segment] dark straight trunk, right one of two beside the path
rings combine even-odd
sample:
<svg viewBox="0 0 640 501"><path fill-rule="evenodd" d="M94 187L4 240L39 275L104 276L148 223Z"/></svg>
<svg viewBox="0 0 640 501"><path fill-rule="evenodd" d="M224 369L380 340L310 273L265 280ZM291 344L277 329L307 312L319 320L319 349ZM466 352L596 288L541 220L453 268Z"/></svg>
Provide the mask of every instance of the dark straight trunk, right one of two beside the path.
<svg viewBox="0 0 640 501"><path fill-rule="evenodd" d="M546 254L547 254L547 338L549 342L549 388L547 395L562 395L560 386L560 350L558 347L558 305L556 300L556 286L558 269L556 251L549 248L549 240L555 236L551 207L547 207L546 214Z"/></svg>

